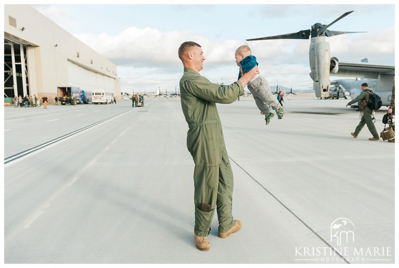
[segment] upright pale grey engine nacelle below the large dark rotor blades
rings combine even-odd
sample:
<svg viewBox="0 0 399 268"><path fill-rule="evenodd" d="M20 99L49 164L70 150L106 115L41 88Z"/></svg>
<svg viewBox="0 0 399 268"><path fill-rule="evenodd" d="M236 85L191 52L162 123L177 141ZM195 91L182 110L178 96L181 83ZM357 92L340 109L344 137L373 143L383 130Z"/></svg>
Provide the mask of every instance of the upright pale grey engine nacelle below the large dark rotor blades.
<svg viewBox="0 0 399 268"><path fill-rule="evenodd" d="M312 37L309 48L310 77L316 97L328 98L330 91L330 44L324 36Z"/></svg>

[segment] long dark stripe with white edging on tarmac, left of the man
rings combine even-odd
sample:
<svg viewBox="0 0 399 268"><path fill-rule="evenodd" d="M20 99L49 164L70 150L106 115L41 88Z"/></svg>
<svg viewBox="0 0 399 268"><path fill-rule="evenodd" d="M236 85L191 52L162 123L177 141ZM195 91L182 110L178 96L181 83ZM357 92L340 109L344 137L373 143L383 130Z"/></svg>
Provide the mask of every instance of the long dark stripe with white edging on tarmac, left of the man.
<svg viewBox="0 0 399 268"><path fill-rule="evenodd" d="M91 125L89 125L89 126L86 126L86 127L84 127L84 128L81 128L81 129L76 130L76 131L74 131L74 132L71 132L71 133L68 133L68 134L59 136L59 137L54 138L54 139L52 139L52 140L50 140L50 141L47 141L47 142L44 142L44 143L42 143L42 144L40 144L40 145L34 146L34 147L30 148L30 149L27 149L27 150L18 152L18 153L14 154L14 155L8 156L8 157L4 158L4 165L5 165L5 164L8 164L8 163L10 163L10 162L12 162L12 161L15 161L15 160L17 160L17 159L19 159L19 158L21 158L21 157L24 157L24 156L26 156L26 155L28 155L28 154L31 154L31 153L33 153L33 152L35 152L35 151L37 151L37 150L43 149L44 147L50 146L51 144L60 142L61 140L65 139L65 138L68 138L68 137L70 137L70 136L79 134L79 133L81 133L81 132L83 132L83 131L86 131L86 130L88 130L88 129L90 129L90 128L93 128L93 127L98 126L98 125L100 125L100 124L103 124L103 123L105 123L105 122L107 122L107 121L109 121L109 120L111 120L111 119L114 119L114 118L116 118L116 117L122 116L122 115L127 114L127 113L130 113L130 112L131 112L131 111L123 112L123 113L114 115L114 116L112 116L112 117L103 119L103 120L101 120L101 121L99 121L99 122L93 123L93 124L91 124Z"/></svg>

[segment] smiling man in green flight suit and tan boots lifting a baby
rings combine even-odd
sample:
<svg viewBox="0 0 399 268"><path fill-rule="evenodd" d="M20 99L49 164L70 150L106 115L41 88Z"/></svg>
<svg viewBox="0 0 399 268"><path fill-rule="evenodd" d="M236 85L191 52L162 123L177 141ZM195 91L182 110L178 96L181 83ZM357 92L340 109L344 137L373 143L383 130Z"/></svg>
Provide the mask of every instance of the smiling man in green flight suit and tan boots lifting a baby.
<svg viewBox="0 0 399 268"><path fill-rule="evenodd" d="M241 228L232 216L233 173L226 152L216 103L232 103L244 93L248 81L259 73L258 67L231 85L213 84L200 75L203 68L202 48L187 41L179 48L184 74L180 80L183 114L189 125L187 148L193 156L194 168L194 239L199 250L209 250L207 236L217 211L218 236L228 237Z"/></svg>

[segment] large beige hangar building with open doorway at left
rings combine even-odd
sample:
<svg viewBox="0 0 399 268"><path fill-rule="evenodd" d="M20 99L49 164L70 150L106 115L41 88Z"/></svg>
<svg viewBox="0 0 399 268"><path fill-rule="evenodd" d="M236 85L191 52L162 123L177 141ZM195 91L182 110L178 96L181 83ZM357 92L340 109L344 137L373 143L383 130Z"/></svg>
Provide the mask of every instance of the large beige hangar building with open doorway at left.
<svg viewBox="0 0 399 268"><path fill-rule="evenodd" d="M120 98L116 65L30 5L4 4L4 102L45 95L52 103L72 88Z"/></svg>

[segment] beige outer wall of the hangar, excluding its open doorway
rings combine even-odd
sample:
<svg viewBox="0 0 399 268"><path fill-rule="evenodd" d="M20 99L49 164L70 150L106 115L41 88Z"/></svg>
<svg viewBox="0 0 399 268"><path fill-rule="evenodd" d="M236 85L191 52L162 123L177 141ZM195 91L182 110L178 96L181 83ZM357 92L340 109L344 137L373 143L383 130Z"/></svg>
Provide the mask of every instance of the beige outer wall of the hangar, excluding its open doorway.
<svg viewBox="0 0 399 268"><path fill-rule="evenodd" d="M16 27L10 25L9 16L16 20ZM22 27L23 31L20 30ZM4 36L35 47L35 80L40 97L46 95L51 100L56 96L58 87L76 86L69 83L74 80L68 73L68 61L71 61L98 77L96 85L91 85L92 81L87 81L87 84L111 89L120 98L116 65L30 5L4 5ZM113 83L109 83L110 78ZM107 82L102 85L102 81Z"/></svg>

